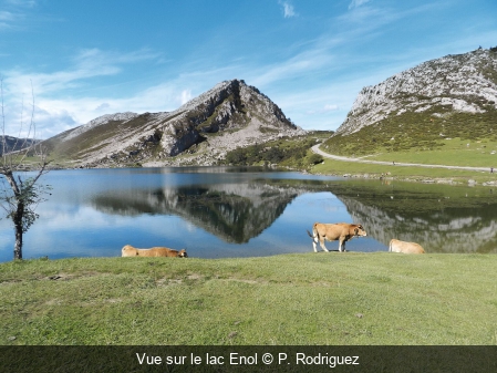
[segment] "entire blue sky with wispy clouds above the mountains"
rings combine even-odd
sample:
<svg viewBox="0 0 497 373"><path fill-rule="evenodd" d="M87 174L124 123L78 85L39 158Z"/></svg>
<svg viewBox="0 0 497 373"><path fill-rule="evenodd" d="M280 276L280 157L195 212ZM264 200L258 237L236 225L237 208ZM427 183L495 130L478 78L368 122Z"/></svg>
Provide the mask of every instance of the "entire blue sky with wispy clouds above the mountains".
<svg viewBox="0 0 497 373"><path fill-rule="evenodd" d="M497 45L496 0L0 0L14 136L33 95L46 138L103 114L173 111L231 79L304 129L336 129L363 86L480 45Z"/></svg>

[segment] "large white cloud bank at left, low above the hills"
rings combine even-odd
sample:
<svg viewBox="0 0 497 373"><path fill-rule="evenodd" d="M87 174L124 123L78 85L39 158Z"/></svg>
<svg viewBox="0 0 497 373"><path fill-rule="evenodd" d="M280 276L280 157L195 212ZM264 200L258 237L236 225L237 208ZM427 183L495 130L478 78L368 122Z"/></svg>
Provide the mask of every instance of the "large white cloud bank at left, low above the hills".
<svg viewBox="0 0 497 373"><path fill-rule="evenodd" d="M175 91L174 94L164 93L164 90L162 90L163 92L157 96L151 96L145 91L126 99L84 95L87 91L93 91L90 80L102 80L117 75L124 71L126 64L157 58L159 58L159 54L151 53L147 50L116 53L89 49L80 51L74 56L73 64L61 71L39 73L12 70L3 72L6 133L13 136L18 135L21 126L21 113L23 113L22 116L25 122L31 113L33 99L37 107L34 111L37 136L43 136L43 138L87 123L100 115L108 114L111 107L115 112L156 111L156 107L164 106L164 95L174 96L174 101L177 101L177 106L179 106L180 99L178 97L182 92L179 90ZM99 87L102 87L102 85L99 85ZM106 86L103 85L103 87ZM68 92L71 95L68 95ZM143 94L143 100L141 100L141 94ZM24 102L24 105L22 102Z"/></svg>

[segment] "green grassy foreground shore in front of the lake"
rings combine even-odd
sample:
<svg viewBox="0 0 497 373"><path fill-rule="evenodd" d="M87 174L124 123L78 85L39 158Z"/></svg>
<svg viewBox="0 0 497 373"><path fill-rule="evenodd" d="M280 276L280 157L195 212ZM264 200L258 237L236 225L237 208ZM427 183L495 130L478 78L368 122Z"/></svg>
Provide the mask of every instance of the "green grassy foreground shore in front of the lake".
<svg viewBox="0 0 497 373"><path fill-rule="evenodd" d="M496 344L496 256L386 252L7 262L0 340Z"/></svg>

